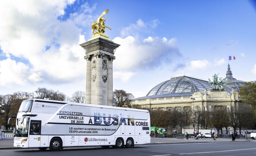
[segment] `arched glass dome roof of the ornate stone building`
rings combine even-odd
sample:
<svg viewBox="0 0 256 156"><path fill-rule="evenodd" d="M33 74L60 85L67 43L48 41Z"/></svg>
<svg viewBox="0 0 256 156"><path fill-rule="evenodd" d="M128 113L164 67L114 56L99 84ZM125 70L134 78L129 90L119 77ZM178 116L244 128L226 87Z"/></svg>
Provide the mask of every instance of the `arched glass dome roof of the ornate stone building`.
<svg viewBox="0 0 256 156"><path fill-rule="evenodd" d="M152 88L146 96L151 95L163 95L163 94L175 94L175 93L192 93L193 92L203 92L204 88L206 90L211 89L211 84L208 81L196 79L189 76L178 76L173 77L170 80L164 81L154 88ZM231 95L232 89L225 87L224 89L228 91Z"/></svg>

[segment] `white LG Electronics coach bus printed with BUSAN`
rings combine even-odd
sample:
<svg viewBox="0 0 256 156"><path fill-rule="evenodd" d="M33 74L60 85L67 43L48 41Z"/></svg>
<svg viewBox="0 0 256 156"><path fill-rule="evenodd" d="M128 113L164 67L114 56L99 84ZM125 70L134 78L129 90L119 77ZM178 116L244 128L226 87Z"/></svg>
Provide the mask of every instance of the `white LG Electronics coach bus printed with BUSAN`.
<svg viewBox="0 0 256 156"><path fill-rule="evenodd" d="M16 118L14 147L130 148L151 141L148 110L28 99L11 118Z"/></svg>

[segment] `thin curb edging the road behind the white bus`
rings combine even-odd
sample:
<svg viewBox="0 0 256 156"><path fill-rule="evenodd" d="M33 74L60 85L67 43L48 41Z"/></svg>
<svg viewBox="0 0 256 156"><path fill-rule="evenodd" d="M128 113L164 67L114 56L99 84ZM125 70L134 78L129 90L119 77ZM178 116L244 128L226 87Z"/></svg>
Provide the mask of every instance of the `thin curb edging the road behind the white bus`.
<svg viewBox="0 0 256 156"><path fill-rule="evenodd" d="M245 141L235 141L235 142L247 142L251 140L245 140ZM213 141L212 141L213 142ZM234 141L218 141L218 142L234 142ZM213 142L213 143L218 143L218 142ZM182 144L182 143L211 143L209 142L166 142L166 143L147 143L147 144ZM142 144L142 145L147 145L147 144ZM90 146L92 147L92 146ZM85 146L76 146L76 147L64 147L64 148L85 148ZM31 147L31 148L22 148L22 147L0 147L0 150L6 150L6 149L37 149L37 147Z"/></svg>

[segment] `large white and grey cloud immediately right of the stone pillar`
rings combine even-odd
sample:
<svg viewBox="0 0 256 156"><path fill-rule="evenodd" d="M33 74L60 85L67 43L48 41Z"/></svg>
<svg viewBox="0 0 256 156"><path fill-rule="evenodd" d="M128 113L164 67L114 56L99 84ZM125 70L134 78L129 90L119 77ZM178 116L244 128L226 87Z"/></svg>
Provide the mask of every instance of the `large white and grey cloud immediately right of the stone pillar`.
<svg viewBox="0 0 256 156"><path fill-rule="evenodd" d="M180 52L177 39L148 37L140 40L133 36L116 37L113 41L121 46L116 50L113 62L117 70L135 70L135 68L159 67L170 64Z"/></svg>

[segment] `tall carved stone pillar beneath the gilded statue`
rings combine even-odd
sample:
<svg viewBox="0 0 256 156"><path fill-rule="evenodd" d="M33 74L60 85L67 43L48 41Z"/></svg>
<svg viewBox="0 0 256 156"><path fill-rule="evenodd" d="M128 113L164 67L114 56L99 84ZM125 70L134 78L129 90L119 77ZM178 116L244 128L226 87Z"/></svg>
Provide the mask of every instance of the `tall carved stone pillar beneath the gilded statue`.
<svg viewBox="0 0 256 156"><path fill-rule="evenodd" d="M113 104L113 60L119 44L97 36L80 44L86 50L86 103Z"/></svg>

